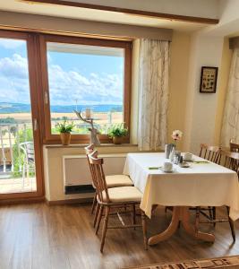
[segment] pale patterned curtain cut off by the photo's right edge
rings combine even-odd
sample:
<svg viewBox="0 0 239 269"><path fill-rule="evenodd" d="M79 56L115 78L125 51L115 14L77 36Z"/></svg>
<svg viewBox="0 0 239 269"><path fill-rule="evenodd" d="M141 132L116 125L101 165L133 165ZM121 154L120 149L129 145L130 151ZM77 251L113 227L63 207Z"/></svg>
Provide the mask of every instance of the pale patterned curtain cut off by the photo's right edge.
<svg viewBox="0 0 239 269"><path fill-rule="evenodd" d="M228 146L230 140L239 143L239 48L235 48L226 95L221 144Z"/></svg>

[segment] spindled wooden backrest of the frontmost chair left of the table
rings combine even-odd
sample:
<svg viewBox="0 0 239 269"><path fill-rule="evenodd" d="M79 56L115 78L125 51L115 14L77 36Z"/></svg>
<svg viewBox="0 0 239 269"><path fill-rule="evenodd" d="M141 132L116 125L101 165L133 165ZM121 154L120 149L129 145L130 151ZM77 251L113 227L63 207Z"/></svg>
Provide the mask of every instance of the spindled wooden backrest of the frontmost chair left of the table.
<svg viewBox="0 0 239 269"><path fill-rule="evenodd" d="M97 188L98 199L100 202L110 202L107 190L107 182L103 170L104 160L98 158L98 151L94 151L88 155L89 163L92 171L92 179Z"/></svg>

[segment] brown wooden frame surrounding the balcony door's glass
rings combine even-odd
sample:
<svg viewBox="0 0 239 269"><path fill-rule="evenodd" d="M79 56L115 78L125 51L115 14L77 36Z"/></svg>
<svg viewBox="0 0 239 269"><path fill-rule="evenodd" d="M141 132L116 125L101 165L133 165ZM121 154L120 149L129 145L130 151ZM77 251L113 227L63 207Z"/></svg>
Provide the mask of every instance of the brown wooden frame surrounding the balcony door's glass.
<svg viewBox="0 0 239 269"><path fill-rule="evenodd" d="M0 30L0 38L5 39L23 39L27 42L27 55L29 66L29 84L30 84L30 106L32 117L32 132L35 149L35 168L36 168L36 183L37 191L22 192L13 194L0 194L0 204L8 203L17 200L43 200L45 196L44 188L44 168L43 168L43 147L42 134L40 123L40 99L42 94L40 92L41 82L38 74L38 34L19 32L12 30Z"/></svg>

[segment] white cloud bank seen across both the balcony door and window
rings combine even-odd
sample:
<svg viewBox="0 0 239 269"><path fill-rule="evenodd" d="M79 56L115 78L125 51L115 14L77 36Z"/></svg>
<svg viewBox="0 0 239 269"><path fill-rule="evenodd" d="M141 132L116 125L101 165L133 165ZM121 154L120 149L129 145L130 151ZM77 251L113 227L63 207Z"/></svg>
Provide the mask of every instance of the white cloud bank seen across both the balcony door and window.
<svg viewBox="0 0 239 269"><path fill-rule="evenodd" d="M50 101L52 105L122 104L122 74L89 74L64 71L60 65L48 66ZM28 102L29 80L27 59L14 54L0 58L0 99ZM10 93L10 94L9 94Z"/></svg>

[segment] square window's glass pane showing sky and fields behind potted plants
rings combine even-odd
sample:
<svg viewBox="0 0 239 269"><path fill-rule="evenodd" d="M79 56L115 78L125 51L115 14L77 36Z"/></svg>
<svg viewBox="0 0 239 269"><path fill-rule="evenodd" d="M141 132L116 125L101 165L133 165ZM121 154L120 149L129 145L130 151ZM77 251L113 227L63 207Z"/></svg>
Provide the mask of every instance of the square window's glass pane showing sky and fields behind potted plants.
<svg viewBox="0 0 239 269"><path fill-rule="evenodd" d="M47 43L51 132L64 118L74 120L73 134L89 134L73 109L90 108L101 134L124 122L124 48Z"/></svg>

